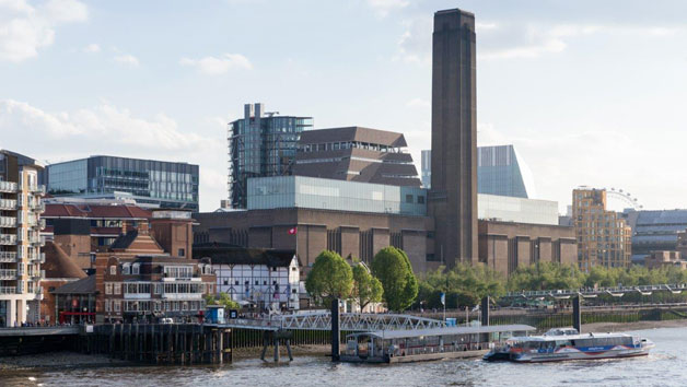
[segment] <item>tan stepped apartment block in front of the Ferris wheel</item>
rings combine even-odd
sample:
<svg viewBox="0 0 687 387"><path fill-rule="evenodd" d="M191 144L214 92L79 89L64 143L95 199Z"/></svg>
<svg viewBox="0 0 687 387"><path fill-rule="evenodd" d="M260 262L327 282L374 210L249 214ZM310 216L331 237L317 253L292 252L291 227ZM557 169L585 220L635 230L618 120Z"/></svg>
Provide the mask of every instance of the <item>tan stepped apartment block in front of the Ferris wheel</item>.
<svg viewBox="0 0 687 387"><path fill-rule="evenodd" d="M572 222L578 238L580 269L627 267L632 251L632 230L619 213L606 210L606 190L589 187L572 191Z"/></svg>

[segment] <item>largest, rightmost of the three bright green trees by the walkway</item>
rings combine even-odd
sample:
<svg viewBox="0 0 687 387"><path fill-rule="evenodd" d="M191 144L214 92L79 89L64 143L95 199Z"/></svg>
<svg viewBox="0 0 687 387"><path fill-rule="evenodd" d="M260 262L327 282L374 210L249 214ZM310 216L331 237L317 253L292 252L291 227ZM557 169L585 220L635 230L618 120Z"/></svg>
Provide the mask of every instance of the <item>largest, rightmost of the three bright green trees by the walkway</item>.
<svg viewBox="0 0 687 387"><path fill-rule="evenodd" d="M372 260L372 273L384 289L384 301L391 310L404 310L412 305L418 295L418 280L410 260L399 248L385 247Z"/></svg>

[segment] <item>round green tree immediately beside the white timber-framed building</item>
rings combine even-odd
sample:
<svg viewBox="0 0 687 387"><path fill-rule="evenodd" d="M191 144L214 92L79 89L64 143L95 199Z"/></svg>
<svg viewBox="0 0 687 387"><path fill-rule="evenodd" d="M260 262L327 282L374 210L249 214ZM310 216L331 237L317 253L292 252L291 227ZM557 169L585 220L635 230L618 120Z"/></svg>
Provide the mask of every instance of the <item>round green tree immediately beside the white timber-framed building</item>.
<svg viewBox="0 0 687 387"><path fill-rule="evenodd" d="M347 298L353 286L353 272L341 256L323 250L305 280L305 290L315 301Z"/></svg>

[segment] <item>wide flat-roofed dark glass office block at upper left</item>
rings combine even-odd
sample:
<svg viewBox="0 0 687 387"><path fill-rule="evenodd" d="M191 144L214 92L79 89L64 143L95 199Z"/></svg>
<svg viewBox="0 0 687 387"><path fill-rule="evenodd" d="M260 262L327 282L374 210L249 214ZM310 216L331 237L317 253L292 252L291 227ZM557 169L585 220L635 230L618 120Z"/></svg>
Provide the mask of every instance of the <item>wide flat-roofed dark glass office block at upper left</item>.
<svg viewBox="0 0 687 387"><path fill-rule="evenodd" d="M91 156L46 168L56 197L135 200L140 207L198 211L198 165Z"/></svg>

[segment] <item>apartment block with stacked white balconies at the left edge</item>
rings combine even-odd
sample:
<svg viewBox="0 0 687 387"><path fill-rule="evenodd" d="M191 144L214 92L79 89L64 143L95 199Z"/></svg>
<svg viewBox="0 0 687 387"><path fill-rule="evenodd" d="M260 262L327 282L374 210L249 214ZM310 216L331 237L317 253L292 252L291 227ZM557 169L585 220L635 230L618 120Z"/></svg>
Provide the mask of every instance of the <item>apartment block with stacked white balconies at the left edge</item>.
<svg viewBox="0 0 687 387"><path fill-rule="evenodd" d="M0 150L0 327L37 321L45 273L40 213L43 166L19 153Z"/></svg>

